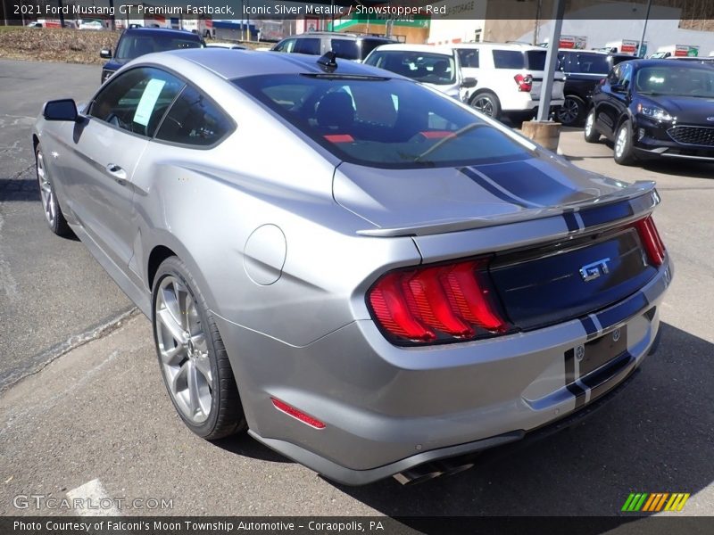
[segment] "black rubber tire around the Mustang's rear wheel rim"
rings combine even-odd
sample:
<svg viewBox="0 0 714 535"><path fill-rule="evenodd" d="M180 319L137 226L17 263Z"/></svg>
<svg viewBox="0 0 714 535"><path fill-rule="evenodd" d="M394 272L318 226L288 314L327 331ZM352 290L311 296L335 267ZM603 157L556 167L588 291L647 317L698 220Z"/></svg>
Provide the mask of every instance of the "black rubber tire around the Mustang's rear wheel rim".
<svg viewBox="0 0 714 535"><path fill-rule="evenodd" d="M179 402L175 399L171 392L169 378L167 377L166 366L162 361L161 350L159 346L159 333L157 323L157 300L159 297L159 289L162 286L162 281L172 277L170 280L178 280L179 284L187 289L188 294L194 300L195 310L198 313L197 319L200 322L203 335L205 338L208 358L211 364L212 384L211 389L211 409L207 419L200 424L190 420L183 412ZM187 307L188 308L188 307ZM188 312L185 312L188 316ZM245 414L243 405L241 404L236 379L233 375L233 369L228 360L228 353L220 338L218 327L209 313L208 305L203 298L198 284L194 277L189 272L186 264L178 257L170 257L165 259L159 266L156 276L154 277L154 288L152 290L152 324L154 326L154 343L156 347L156 355L159 359L159 366L162 370L162 377L169 397L176 412L184 421L184 424L200 437L206 440L216 440L237 432L245 431L247 425L245 423ZM186 358L187 359L187 358Z"/></svg>

